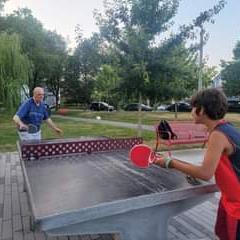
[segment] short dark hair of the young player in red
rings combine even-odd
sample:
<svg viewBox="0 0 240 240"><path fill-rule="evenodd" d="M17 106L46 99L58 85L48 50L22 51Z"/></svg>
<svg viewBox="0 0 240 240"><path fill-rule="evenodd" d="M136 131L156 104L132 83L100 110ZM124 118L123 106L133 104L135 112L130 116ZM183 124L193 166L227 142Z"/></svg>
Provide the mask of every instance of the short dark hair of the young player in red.
<svg viewBox="0 0 240 240"><path fill-rule="evenodd" d="M225 116L228 103L225 94L216 88L204 89L197 92L191 100L192 107L196 107L198 114L203 108L205 114L212 120L218 120Z"/></svg>

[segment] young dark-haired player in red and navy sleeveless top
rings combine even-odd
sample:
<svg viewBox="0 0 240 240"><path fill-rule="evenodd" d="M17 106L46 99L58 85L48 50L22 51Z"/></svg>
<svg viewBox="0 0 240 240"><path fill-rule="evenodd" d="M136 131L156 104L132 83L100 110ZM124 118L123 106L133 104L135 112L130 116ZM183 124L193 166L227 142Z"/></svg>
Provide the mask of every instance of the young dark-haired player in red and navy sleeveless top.
<svg viewBox="0 0 240 240"><path fill-rule="evenodd" d="M203 180L215 175L221 192L216 235L221 240L240 240L240 132L223 120L227 106L226 96L217 89L202 90L192 97L193 120L209 131L200 166L161 156L154 163Z"/></svg>

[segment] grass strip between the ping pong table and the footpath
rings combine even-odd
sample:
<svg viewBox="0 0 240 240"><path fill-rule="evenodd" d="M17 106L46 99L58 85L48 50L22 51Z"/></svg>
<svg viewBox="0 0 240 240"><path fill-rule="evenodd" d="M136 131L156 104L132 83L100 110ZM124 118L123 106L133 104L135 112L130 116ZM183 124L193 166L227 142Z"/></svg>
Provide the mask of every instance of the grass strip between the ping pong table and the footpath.
<svg viewBox="0 0 240 240"><path fill-rule="evenodd" d="M18 135L12 121L12 114L0 113L0 152L16 151ZM79 136L108 136L108 137L135 137L137 130L129 128L116 128L110 125L89 124L85 122L54 119L55 123L63 130L63 138ZM46 124L42 126L42 137L59 138ZM155 135L153 132L143 131L144 140L151 142Z"/></svg>

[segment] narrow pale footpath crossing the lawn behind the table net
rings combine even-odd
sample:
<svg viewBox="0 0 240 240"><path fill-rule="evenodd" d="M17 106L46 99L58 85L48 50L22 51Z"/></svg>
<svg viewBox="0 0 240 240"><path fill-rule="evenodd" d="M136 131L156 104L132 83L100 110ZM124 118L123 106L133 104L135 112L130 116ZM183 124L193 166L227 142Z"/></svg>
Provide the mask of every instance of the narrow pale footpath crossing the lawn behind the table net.
<svg viewBox="0 0 240 240"><path fill-rule="evenodd" d="M53 115L53 117L76 121L76 122L97 123L97 124L104 124L104 125L111 125L111 126L116 126L116 127L132 128L132 129L139 128L139 125L135 124L135 123L117 122L117 121L109 121L109 120L97 120L97 119L92 119L92 118L81 118L81 117L68 117L68 116L60 116L60 115ZM143 130L155 131L154 126L142 124L140 127Z"/></svg>

